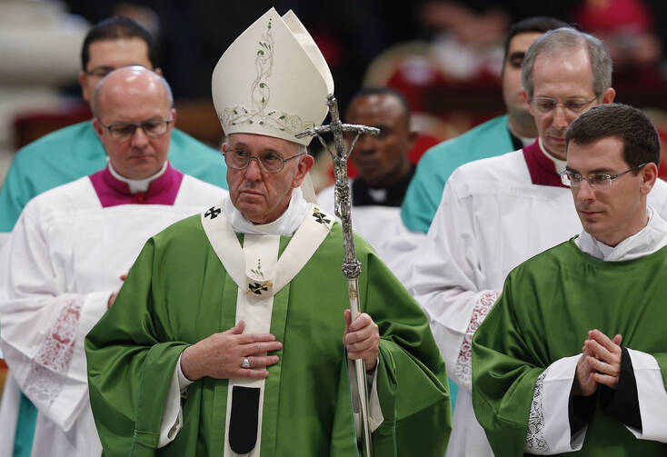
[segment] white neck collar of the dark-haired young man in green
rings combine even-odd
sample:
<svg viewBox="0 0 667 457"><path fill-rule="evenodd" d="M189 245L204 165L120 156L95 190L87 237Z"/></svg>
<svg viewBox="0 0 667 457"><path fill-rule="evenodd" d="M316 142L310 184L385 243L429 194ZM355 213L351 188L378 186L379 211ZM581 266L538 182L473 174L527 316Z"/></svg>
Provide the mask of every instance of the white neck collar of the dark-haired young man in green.
<svg viewBox="0 0 667 457"><path fill-rule="evenodd" d="M585 231L576 243L584 253L605 262L632 260L654 253L667 245L667 222L650 206L647 206L646 214L649 217L646 226L615 246L602 243Z"/></svg>

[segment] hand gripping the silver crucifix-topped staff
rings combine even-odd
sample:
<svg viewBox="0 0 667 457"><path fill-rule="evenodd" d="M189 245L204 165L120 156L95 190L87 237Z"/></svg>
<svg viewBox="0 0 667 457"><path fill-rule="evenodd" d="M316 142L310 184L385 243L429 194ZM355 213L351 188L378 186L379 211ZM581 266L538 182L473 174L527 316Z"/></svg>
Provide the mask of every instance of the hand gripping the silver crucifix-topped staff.
<svg viewBox="0 0 667 457"><path fill-rule="evenodd" d="M352 322L352 313L345 310L345 332L343 344L349 359L363 359L366 370L373 370L380 352L380 333L371 316L361 313Z"/></svg>

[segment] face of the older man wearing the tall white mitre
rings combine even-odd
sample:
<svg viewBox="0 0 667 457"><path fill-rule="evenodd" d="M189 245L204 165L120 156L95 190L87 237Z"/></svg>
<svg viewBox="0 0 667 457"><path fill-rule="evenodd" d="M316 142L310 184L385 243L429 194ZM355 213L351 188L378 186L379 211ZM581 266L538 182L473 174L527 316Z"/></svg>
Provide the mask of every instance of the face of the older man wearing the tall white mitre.
<svg viewBox="0 0 667 457"><path fill-rule="evenodd" d="M230 153L272 153L279 154L283 159L299 154L298 144L260 134L231 134L226 148ZM227 184L232 203L254 224L274 222L287 209L292 190L303 183L305 174L313 164L313 157L304 154L286 161L283 170L278 173L263 172L254 159L250 160L244 170L227 166Z"/></svg>

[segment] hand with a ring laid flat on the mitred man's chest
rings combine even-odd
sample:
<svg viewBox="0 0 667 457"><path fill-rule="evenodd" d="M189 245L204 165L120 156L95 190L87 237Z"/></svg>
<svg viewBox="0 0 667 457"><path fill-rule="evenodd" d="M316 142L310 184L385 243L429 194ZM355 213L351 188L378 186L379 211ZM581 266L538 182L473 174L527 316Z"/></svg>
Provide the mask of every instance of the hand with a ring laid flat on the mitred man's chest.
<svg viewBox="0 0 667 457"><path fill-rule="evenodd" d="M181 355L181 371L190 381L204 376L216 379L265 378L268 365L278 363L277 355L283 343L275 341L271 333L243 333L244 321L222 333L214 333L204 340L185 348ZM244 359L250 366L243 367Z"/></svg>

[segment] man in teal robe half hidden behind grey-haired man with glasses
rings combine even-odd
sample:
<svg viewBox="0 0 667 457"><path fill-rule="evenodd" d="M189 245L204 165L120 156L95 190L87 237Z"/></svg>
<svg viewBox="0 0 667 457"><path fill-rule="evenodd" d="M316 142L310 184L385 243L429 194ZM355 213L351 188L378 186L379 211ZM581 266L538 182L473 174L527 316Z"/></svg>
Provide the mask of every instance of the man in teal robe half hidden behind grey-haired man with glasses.
<svg viewBox="0 0 667 457"><path fill-rule="evenodd" d="M563 25L551 17L531 17L513 25L505 40L503 60L503 100L507 114L434 146L417 164L401 206L400 234L387 243L389 266L403 282L409 279L413 250L428 232L449 175L467 162L533 143L537 130L522 94L523 55L535 38Z"/></svg>

